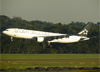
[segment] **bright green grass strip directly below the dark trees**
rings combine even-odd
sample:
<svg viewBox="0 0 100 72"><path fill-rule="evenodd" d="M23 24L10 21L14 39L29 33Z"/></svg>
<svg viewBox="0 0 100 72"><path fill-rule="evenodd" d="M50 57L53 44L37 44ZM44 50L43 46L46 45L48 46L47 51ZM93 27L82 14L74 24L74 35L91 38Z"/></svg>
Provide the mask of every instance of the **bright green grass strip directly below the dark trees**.
<svg viewBox="0 0 100 72"><path fill-rule="evenodd" d="M99 58L99 54L1 54L1 59Z"/></svg>

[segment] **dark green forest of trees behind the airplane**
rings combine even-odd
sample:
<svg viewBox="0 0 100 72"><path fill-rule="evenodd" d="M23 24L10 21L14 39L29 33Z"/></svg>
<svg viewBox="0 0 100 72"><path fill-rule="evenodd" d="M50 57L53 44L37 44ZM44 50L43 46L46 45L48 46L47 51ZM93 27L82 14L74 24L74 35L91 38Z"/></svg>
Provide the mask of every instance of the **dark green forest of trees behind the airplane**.
<svg viewBox="0 0 100 72"><path fill-rule="evenodd" d="M96 54L99 53L99 22L93 23L91 31L89 32L88 41L82 41L71 44L52 43L52 47L48 46L46 42L38 43L34 40L23 40L14 38L10 41L10 37L2 34L2 31L7 28L23 28L31 30L41 30L48 32L57 32L64 34L78 33L85 25L83 22L71 22L69 24L51 23L42 21L26 21L20 17L9 18L7 16L0 16L0 53L2 54L71 54L84 53Z"/></svg>

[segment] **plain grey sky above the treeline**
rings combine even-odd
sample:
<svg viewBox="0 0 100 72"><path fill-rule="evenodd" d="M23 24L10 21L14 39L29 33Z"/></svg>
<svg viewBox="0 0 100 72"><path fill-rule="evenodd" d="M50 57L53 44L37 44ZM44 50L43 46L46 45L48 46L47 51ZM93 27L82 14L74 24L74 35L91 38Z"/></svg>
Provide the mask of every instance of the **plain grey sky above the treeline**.
<svg viewBox="0 0 100 72"><path fill-rule="evenodd" d="M1 14L54 23L99 21L99 0L1 0Z"/></svg>

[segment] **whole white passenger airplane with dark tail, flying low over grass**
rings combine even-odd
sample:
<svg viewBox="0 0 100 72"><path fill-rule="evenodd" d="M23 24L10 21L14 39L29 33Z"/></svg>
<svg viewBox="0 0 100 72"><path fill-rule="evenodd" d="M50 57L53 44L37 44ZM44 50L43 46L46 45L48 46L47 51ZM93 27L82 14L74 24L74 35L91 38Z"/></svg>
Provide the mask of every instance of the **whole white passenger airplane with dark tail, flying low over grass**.
<svg viewBox="0 0 100 72"><path fill-rule="evenodd" d="M36 30L27 30L27 29L19 29L19 28L8 28L3 31L4 34L11 36L11 41L13 41L13 37L15 38L23 38L23 39L34 39L37 42L46 41L48 44L50 43L74 43L79 41L89 40L87 34L92 26L91 23L85 25L85 27L78 32L77 34L61 34L61 33L53 33L53 32L44 32L44 31L36 31Z"/></svg>

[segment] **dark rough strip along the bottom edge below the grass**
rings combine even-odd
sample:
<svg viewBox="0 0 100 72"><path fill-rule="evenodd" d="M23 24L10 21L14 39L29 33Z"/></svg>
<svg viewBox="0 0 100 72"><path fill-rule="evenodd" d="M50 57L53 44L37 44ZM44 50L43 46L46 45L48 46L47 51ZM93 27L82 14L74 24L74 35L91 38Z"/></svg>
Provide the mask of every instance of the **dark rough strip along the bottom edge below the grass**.
<svg viewBox="0 0 100 72"><path fill-rule="evenodd" d="M60 67L36 67L36 68L26 68L26 69L0 69L1 72L99 72L99 68L60 68Z"/></svg>

